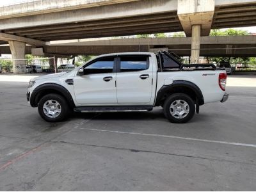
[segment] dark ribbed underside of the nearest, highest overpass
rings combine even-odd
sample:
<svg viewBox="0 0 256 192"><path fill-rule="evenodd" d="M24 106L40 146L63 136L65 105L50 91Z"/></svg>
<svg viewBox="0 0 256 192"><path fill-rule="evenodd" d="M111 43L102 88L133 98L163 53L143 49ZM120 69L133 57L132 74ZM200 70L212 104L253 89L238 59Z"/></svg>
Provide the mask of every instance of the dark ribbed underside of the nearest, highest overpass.
<svg viewBox="0 0 256 192"><path fill-rule="evenodd" d="M124 5L125 6L125 5ZM211 23L210 23L211 24ZM256 2L215 6L211 28L256 26ZM183 31L176 11L152 13L24 28L4 29L3 33L43 41L96 38Z"/></svg>

